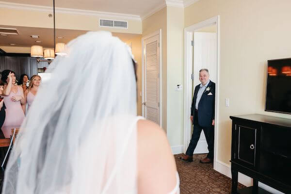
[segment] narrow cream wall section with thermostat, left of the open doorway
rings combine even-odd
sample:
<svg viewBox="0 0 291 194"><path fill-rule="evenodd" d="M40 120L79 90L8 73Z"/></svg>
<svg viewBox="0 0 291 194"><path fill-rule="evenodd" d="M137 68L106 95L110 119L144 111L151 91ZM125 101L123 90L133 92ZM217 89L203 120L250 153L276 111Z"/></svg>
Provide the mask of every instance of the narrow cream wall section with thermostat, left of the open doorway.
<svg viewBox="0 0 291 194"><path fill-rule="evenodd" d="M184 9L167 7L167 137L171 146L183 145Z"/></svg>

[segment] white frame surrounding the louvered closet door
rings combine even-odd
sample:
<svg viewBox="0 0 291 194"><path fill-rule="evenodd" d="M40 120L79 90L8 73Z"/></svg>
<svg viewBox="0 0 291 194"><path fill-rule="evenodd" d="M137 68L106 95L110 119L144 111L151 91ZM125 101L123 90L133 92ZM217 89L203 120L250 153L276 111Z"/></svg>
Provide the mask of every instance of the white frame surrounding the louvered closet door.
<svg viewBox="0 0 291 194"><path fill-rule="evenodd" d="M160 86L160 127L162 127L162 29L156 31L156 32L153 32L145 37L142 37L142 116L145 116L145 105L143 104L144 103L144 95L145 95L145 91L144 91L144 67L145 67L145 64L144 64L144 55L145 55L145 52L144 52L144 42L146 39L148 38L151 38L155 35L160 35L160 42L159 42L159 45L160 45L160 65L159 66L159 86Z"/></svg>

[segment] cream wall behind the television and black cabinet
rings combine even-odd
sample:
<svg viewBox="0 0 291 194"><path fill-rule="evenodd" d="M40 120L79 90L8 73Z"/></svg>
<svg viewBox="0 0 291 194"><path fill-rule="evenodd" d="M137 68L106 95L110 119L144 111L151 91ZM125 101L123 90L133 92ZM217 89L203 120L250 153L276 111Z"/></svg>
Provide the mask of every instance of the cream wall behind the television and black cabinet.
<svg viewBox="0 0 291 194"><path fill-rule="evenodd" d="M200 0L185 8L185 27L220 16L219 161L230 160L229 115L291 118L264 111L267 60L291 57L290 7L290 0Z"/></svg>

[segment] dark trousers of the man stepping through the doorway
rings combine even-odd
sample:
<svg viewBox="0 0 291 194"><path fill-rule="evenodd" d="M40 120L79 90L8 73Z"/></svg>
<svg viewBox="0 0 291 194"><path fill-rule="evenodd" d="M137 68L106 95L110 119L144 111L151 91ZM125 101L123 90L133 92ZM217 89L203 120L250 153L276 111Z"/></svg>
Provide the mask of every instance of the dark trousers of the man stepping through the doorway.
<svg viewBox="0 0 291 194"><path fill-rule="evenodd" d="M213 160L213 154L214 154L214 139L213 139L214 138L214 126L211 125L209 127L201 127L198 124L198 116L197 116L197 114L198 114L198 112L195 110L194 118L193 118L193 134L192 134L192 138L191 138L190 144L189 144L189 146L187 148L186 155L193 156L194 149L197 146L198 140L200 138L201 131L203 129L205 137L206 137L207 145L208 145L208 150L209 150L207 158Z"/></svg>

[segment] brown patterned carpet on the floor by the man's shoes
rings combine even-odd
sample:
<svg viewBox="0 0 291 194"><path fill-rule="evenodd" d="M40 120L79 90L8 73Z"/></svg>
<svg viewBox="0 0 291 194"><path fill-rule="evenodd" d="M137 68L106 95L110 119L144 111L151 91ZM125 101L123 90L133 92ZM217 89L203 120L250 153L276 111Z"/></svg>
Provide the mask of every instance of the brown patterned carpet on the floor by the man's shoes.
<svg viewBox="0 0 291 194"><path fill-rule="evenodd" d="M199 162L206 154L194 154L193 162L181 161L181 155L175 155L181 194L230 194L231 179L213 170L213 163ZM238 189L243 187L239 183Z"/></svg>

